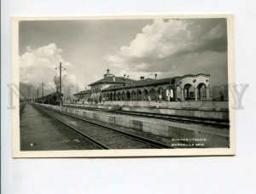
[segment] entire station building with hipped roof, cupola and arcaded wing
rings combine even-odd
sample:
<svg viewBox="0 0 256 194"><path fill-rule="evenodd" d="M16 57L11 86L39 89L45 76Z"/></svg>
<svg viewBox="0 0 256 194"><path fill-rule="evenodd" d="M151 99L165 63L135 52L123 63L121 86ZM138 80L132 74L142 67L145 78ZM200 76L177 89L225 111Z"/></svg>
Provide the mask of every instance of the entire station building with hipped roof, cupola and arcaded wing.
<svg viewBox="0 0 256 194"><path fill-rule="evenodd" d="M115 77L110 73L90 83L90 90L74 94L78 99L88 98L106 101L140 101L140 100L210 100L210 75L184 75L157 79L140 77L133 80L129 77Z"/></svg>

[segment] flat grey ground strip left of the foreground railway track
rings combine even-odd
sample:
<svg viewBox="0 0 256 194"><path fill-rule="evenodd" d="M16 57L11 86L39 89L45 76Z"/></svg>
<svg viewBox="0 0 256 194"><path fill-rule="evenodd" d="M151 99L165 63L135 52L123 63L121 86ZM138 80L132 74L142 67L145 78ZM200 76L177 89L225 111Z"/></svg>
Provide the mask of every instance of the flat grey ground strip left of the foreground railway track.
<svg viewBox="0 0 256 194"><path fill-rule="evenodd" d="M20 151L92 150L79 134L26 103L20 112Z"/></svg>

